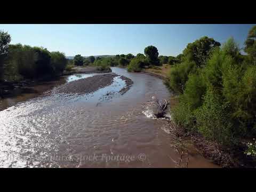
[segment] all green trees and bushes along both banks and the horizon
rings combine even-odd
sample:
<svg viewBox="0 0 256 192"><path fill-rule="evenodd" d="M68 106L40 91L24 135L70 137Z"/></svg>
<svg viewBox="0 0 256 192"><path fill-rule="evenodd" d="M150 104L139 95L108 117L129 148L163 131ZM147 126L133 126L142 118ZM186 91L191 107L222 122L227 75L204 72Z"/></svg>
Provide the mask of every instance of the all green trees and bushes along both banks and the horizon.
<svg viewBox="0 0 256 192"><path fill-rule="evenodd" d="M168 66L165 83L178 97L171 109L173 122L180 129L229 149L246 141L244 154L256 156L256 26L245 41L246 54L241 53L233 38L221 45L206 36L189 43L177 57L158 56L157 48L148 46L144 54L136 56L84 58L78 54L73 60L42 47L9 45L11 37L4 31L0 41L2 81L59 75L74 66L95 66L98 70L119 66L130 72L157 71Z"/></svg>

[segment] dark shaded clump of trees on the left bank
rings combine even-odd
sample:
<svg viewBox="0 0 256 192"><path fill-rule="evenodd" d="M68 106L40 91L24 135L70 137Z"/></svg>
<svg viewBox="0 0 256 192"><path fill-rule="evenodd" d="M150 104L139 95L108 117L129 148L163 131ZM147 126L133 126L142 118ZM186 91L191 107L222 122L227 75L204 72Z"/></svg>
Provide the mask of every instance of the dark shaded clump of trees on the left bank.
<svg viewBox="0 0 256 192"><path fill-rule="evenodd" d="M64 53L50 52L43 47L9 45L10 35L0 32L0 71L5 81L62 74L67 65Z"/></svg>

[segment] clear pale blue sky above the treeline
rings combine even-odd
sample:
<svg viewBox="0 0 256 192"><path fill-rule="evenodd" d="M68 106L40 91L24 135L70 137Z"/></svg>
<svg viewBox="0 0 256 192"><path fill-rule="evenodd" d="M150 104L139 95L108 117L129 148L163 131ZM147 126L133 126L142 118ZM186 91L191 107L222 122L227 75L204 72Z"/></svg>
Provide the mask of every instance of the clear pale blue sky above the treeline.
<svg viewBox="0 0 256 192"><path fill-rule="evenodd" d="M188 43L202 36L223 43L233 36L243 47L254 25L1 25L12 44L43 46L66 56L81 54L143 53L148 45L157 47L159 55L176 56Z"/></svg>

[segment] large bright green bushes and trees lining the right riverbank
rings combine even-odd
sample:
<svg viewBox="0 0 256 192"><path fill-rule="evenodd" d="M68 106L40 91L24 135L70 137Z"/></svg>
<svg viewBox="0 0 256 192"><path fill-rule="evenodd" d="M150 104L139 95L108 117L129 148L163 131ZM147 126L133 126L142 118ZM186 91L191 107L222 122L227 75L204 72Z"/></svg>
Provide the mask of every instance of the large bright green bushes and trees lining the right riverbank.
<svg viewBox="0 0 256 192"><path fill-rule="evenodd" d="M221 47L207 37L189 44L167 81L180 93L175 123L223 145L254 137L256 66L250 54L241 55L233 38Z"/></svg>

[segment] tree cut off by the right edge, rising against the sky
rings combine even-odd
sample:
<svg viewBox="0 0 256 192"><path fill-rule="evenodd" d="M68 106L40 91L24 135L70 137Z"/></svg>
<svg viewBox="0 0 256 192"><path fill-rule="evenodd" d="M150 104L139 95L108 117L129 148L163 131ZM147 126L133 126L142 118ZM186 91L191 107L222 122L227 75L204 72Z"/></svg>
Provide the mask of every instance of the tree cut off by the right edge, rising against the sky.
<svg viewBox="0 0 256 192"><path fill-rule="evenodd" d="M255 65L256 64L256 26L253 26L248 33L247 39L245 41L244 51L252 57L253 63Z"/></svg>

